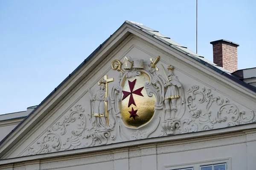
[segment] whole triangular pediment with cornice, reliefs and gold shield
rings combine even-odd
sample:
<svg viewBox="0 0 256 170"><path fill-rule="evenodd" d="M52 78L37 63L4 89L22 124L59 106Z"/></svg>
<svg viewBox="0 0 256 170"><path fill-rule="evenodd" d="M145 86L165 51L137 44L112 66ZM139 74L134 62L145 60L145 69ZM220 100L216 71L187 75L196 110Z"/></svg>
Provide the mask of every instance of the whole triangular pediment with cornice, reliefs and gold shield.
<svg viewBox="0 0 256 170"><path fill-rule="evenodd" d="M0 156L248 124L255 122L255 96L124 23L1 143Z"/></svg>

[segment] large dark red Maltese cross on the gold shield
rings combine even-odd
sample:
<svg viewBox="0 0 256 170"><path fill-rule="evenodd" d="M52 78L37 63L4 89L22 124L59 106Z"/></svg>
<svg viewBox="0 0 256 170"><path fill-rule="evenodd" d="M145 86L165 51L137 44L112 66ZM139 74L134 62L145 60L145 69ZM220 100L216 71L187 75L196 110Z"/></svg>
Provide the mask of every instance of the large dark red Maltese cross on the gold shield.
<svg viewBox="0 0 256 170"><path fill-rule="evenodd" d="M138 88L137 90L133 91L134 85L135 85L135 83L136 83L136 80L137 80L137 79L134 79L133 82L130 82L130 81L128 80L129 87L130 87L130 92L129 92L129 91L122 91L123 94L124 94L122 100L125 99L127 96L130 95L130 99L129 99L129 102L128 102L128 108L130 107L131 104L134 104L134 105L136 106L135 101L134 101L134 98L133 98L133 96L132 96L133 94L137 94L137 95L139 95L139 96L143 96L143 95L141 94L141 91L142 91L142 89L143 89L144 87Z"/></svg>

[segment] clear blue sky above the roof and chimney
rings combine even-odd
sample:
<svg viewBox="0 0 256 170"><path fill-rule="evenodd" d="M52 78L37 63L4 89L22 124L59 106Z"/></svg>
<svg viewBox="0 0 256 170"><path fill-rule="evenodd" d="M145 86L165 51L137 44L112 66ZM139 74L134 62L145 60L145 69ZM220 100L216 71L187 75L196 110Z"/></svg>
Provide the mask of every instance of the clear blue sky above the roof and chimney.
<svg viewBox="0 0 256 170"><path fill-rule="evenodd" d="M256 1L198 0L198 54L238 43L238 68L256 67ZM1 0L0 114L38 105L125 20L195 51L196 0Z"/></svg>

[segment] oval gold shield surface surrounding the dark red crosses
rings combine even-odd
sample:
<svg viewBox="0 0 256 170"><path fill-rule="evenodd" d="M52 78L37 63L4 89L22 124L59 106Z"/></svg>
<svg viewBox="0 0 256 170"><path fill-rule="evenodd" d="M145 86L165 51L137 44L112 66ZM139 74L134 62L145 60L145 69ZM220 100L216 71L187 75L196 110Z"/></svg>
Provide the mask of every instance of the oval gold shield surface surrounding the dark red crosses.
<svg viewBox="0 0 256 170"><path fill-rule="evenodd" d="M140 127L142 125L145 125L147 122L149 122L154 115L154 106L156 101L156 98L154 95L151 97L147 95L147 92L145 90L145 82L150 82L150 78L148 77L147 74L143 72L141 73L140 76L131 77L131 78L125 77L121 82L123 91L129 92L130 87L129 87L128 81L133 82L135 79L136 79L136 83L133 89L136 90L144 87L141 91L141 94L143 96L133 94L133 98L134 98L134 102L136 103L136 106L134 104L131 104L128 107L128 103L130 99L129 96L123 99L121 102L119 102L122 121L124 122L125 125L129 127ZM124 94L122 94L122 97L123 95ZM129 113L129 111L130 112L132 111L132 108L134 111L137 110L137 113L136 113L137 116L134 119L133 117L131 117L131 113Z"/></svg>

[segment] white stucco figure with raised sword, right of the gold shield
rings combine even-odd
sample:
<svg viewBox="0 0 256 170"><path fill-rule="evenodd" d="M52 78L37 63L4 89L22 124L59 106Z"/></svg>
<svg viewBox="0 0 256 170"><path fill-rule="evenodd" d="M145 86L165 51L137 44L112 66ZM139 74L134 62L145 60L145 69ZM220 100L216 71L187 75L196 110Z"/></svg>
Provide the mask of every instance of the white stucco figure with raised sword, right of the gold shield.
<svg viewBox="0 0 256 170"><path fill-rule="evenodd" d="M183 110L185 104L184 91L180 81L177 76L173 74L174 67L169 65L168 67L168 80L164 84L164 87L167 88L164 103L166 116L165 119L177 119L178 109ZM179 105L177 105L177 99L180 99ZM177 108L177 106L180 106Z"/></svg>

